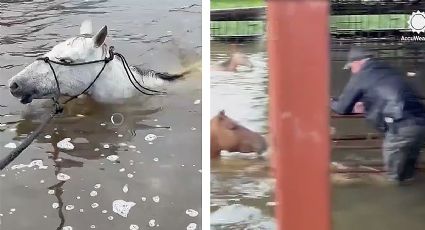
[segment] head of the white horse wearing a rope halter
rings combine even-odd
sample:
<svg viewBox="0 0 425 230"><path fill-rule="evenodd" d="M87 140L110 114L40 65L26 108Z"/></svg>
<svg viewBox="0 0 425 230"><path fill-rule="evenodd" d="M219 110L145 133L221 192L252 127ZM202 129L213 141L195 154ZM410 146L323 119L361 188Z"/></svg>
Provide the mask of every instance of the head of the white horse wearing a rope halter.
<svg viewBox="0 0 425 230"><path fill-rule="evenodd" d="M81 63L104 59L107 47L104 44L107 27L96 35L89 34L87 23L83 23L80 36L57 44L44 57L63 63ZM91 25L89 26L91 30ZM62 95L74 96L81 93L94 80L104 63L78 66L63 66L51 63L58 78ZM58 88L49 64L36 60L9 80L10 92L20 98L21 103L30 103L33 99L52 98Z"/></svg>

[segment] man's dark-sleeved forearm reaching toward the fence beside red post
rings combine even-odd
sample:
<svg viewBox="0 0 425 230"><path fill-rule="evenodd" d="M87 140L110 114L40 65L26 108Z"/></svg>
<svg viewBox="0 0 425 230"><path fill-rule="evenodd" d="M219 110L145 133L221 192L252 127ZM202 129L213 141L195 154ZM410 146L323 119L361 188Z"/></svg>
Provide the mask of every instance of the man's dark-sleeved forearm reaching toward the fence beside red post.
<svg viewBox="0 0 425 230"><path fill-rule="evenodd" d="M338 100L331 101L331 108L338 114L350 114L356 102L361 99L362 94L360 76L351 77Z"/></svg>

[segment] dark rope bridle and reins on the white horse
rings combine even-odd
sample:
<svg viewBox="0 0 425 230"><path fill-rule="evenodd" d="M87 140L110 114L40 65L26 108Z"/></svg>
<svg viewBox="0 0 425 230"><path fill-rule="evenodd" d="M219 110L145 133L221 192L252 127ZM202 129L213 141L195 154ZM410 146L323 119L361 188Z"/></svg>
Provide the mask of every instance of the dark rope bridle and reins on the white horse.
<svg viewBox="0 0 425 230"><path fill-rule="evenodd" d="M95 60L95 61L87 61L87 62L79 62L79 63L65 63L65 62L58 62L58 61L55 61L55 60L51 60L49 57L40 57L40 58L37 58L36 60L44 61L49 65L50 69L53 72L53 76L55 78L55 81L56 81L57 95L53 98L53 101L55 102L55 105L56 105L56 108L57 108L57 113L62 111L61 104L64 105L64 104L70 102L71 100L74 100L78 96L86 93L93 86L93 84L97 81L97 79L100 77L100 75L102 74L103 70L106 67L106 64L108 64L110 61L112 61L115 56L117 56L121 59L121 62L123 64L123 68L124 68L124 70L127 74L128 80L131 82L131 84L134 86L134 88L136 88L139 92L141 92L142 94L145 94L145 95L164 95L164 94L166 94L166 92L157 91L157 90L154 90L154 89L149 89L145 86L142 86L139 83L139 81L136 79L134 74L131 72L130 66L128 65L125 57L120 53L114 52L113 46L109 47L109 57L107 57L105 55L104 59ZM86 89L84 89L81 93L79 93L77 95L71 96L70 98L65 100L63 103L59 103L59 96L61 94L61 90L60 90L60 86L59 86L59 80L58 80L58 77L56 75L55 69L52 66L52 63L57 64L57 65L63 65L63 66L79 66L79 65L89 65L89 64L101 63L101 62L103 62L102 69L100 69L99 73L96 75L94 80L90 83L90 85L87 86Z"/></svg>

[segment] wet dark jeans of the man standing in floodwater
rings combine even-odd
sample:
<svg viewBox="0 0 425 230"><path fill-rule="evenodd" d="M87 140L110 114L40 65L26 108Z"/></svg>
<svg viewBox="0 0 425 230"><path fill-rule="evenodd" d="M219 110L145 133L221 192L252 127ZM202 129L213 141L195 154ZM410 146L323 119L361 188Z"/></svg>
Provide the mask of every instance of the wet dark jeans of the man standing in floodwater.
<svg viewBox="0 0 425 230"><path fill-rule="evenodd" d="M400 127L396 133L385 133L383 155L390 179L404 181L413 178L424 139L425 126Z"/></svg>

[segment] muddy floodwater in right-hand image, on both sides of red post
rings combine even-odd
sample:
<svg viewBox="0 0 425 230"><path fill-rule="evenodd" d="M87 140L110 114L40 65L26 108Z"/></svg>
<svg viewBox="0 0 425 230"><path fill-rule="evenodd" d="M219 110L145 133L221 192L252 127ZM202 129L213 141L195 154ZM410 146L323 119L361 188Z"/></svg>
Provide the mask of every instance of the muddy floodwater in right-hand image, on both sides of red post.
<svg viewBox="0 0 425 230"><path fill-rule="evenodd" d="M331 44L331 92L338 96L349 80L342 70L349 42ZM408 81L425 96L425 52L421 44L368 43L379 49L380 56L401 69ZM242 125L267 133L267 53L264 41L240 46L253 62L252 72L211 73L212 108L210 116L225 109L226 114ZM213 41L214 63L229 56L229 43ZM314 77L314 76L312 76ZM308 106L308 105L306 105ZM332 119L335 136L376 134L363 119ZM334 143L332 161L340 165L360 165L363 169L382 164L380 149L343 149L341 146L380 146L381 141ZM339 147L337 147L337 145ZM314 150L312 150L314 151ZM422 156L423 158L424 156ZM252 155L224 154L211 165L211 225L213 229L276 229L274 181L267 161ZM373 171L373 168L367 168ZM379 168L379 167L376 167ZM308 169L305 169L308 170ZM425 178L418 175L415 184L397 187L382 183L382 176L372 174L337 174L332 183L332 223L336 230L423 229L425 227Z"/></svg>

